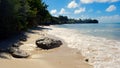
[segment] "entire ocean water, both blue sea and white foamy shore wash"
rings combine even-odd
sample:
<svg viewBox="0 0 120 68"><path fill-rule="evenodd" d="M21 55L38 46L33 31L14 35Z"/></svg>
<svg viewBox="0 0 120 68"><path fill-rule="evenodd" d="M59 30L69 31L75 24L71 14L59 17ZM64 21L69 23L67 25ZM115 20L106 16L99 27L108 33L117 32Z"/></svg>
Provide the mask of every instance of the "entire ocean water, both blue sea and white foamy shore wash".
<svg viewBox="0 0 120 68"><path fill-rule="evenodd" d="M65 24L50 27L48 34L60 37L78 49L94 68L120 68L120 24Z"/></svg>

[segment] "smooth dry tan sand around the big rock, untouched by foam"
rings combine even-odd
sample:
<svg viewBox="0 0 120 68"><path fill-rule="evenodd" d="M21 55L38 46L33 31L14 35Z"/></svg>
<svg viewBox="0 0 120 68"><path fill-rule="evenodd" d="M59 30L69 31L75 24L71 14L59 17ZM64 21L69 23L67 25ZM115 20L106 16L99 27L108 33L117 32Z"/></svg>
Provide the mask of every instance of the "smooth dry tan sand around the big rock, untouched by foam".
<svg viewBox="0 0 120 68"><path fill-rule="evenodd" d="M35 40L47 33L46 30L32 32L27 33L28 40L24 44L35 45ZM51 50L32 50L28 59L0 59L0 68L93 68L76 49L66 45L64 43L61 47Z"/></svg>

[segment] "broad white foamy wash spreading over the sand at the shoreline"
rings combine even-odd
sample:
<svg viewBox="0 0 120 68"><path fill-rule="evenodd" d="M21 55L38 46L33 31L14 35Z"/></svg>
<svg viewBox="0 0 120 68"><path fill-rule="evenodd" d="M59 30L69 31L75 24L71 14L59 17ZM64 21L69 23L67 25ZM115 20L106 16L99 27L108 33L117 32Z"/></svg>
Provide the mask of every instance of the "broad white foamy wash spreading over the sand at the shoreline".
<svg viewBox="0 0 120 68"><path fill-rule="evenodd" d="M48 34L65 40L70 48L77 48L94 68L120 68L120 41L83 35L77 30L51 26Z"/></svg>

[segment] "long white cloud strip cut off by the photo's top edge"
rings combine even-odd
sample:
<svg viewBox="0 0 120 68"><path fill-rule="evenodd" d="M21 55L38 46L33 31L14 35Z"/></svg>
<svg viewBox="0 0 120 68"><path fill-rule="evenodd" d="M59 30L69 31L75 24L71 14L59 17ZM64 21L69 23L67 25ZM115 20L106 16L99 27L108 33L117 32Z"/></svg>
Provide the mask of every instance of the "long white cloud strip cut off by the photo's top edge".
<svg viewBox="0 0 120 68"><path fill-rule="evenodd" d="M106 2L117 2L117 1L120 1L120 0L80 0L81 3L84 3L84 4L90 4L90 3L94 3L94 2L97 2L97 3L106 3Z"/></svg>

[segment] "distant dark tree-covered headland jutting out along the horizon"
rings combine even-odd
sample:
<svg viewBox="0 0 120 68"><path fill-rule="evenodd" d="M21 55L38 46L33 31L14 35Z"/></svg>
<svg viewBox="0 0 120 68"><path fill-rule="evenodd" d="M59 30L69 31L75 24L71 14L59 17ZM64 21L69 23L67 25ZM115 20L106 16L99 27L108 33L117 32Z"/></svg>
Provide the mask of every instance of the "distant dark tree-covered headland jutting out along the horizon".
<svg viewBox="0 0 120 68"><path fill-rule="evenodd" d="M69 19L67 16L52 17L49 24L76 24L76 23L98 23L96 19Z"/></svg>

